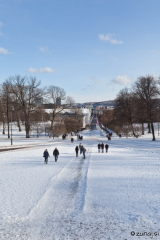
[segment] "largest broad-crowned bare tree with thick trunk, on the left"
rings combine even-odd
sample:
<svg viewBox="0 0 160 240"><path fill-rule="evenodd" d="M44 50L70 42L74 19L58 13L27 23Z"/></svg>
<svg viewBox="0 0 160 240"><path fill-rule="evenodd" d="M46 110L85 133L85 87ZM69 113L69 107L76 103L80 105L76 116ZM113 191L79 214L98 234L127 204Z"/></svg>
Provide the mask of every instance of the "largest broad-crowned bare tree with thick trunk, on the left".
<svg viewBox="0 0 160 240"><path fill-rule="evenodd" d="M35 111L37 98L42 97L43 90L39 88L40 82L35 77L27 78L16 75L8 79L11 92L16 99L17 107L23 112L26 138L30 138L30 117Z"/></svg>

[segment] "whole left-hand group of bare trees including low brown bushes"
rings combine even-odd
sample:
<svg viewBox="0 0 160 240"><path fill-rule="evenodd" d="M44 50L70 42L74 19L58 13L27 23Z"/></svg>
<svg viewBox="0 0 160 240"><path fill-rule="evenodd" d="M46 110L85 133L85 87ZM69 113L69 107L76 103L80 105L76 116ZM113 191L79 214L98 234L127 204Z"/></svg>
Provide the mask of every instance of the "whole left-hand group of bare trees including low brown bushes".
<svg viewBox="0 0 160 240"><path fill-rule="evenodd" d="M69 130L74 131L75 125L80 128L81 124L78 123L82 122L82 113L76 112L77 109L73 108L74 99L67 97L63 88L53 85L42 88L40 85L40 81L35 77L20 75L9 77L1 85L0 122L3 124L3 134L7 126L8 138L10 138L11 121L17 122L19 131L24 124L26 138L30 137L31 131L35 131L38 136L43 131L42 122L46 122L49 136L58 136ZM36 104L38 99L50 104L50 114L45 112L41 104ZM57 99L63 102L61 106L57 103ZM58 117L67 106L71 109L70 121ZM50 120L50 123L47 120Z"/></svg>

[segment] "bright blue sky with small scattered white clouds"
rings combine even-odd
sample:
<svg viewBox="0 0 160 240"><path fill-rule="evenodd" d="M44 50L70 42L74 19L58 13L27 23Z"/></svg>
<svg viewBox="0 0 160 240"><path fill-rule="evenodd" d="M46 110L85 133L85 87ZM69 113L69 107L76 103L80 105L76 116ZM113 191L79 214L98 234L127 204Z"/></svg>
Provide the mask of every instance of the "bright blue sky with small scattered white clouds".
<svg viewBox="0 0 160 240"><path fill-rule="evenodd" d="M0 83L20 74L105 101L160 74L160 0L0 0Z"/></svg>

